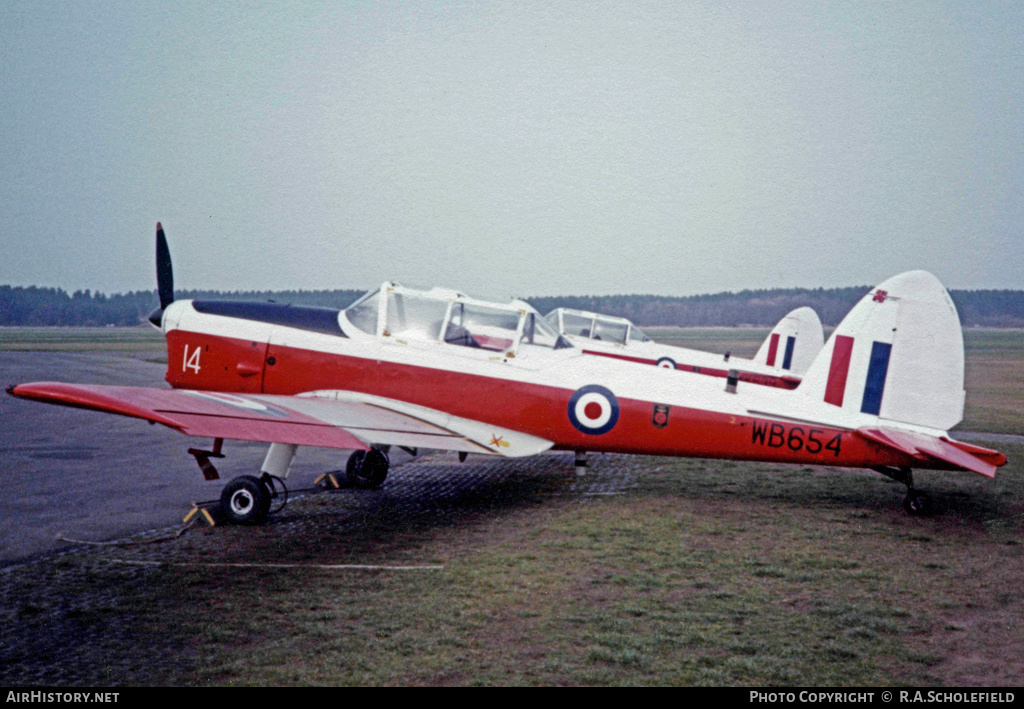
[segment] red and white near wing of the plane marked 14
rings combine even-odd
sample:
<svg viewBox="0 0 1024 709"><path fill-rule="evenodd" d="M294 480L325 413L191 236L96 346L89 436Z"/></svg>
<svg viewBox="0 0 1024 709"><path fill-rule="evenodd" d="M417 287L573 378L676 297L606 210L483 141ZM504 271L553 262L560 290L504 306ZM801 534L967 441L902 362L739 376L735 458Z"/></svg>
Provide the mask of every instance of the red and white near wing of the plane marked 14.
<svg viewBox="0 0 1024 709"><path fill-rule="evenodd" d="M380 444L505 457L536 455L552 446L519 431L352 391L290 397L34 382L7 392L140 418L186 435L232 441L355 450Z"/></svg>

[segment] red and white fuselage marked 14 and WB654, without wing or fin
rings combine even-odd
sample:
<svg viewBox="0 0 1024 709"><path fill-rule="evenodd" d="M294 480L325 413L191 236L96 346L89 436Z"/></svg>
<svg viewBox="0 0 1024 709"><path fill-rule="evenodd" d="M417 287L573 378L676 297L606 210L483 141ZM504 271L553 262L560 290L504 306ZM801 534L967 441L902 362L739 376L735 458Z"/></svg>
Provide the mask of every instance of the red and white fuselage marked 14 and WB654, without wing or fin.
<svg viewBox="0 0 1024 709"><path fill-rule="evenodd" d="M852 467L957 467L858 432L878 425L876 415L808 397L795 401L799 391L740 384L733 392L721 379L584 356L560 345L557 335L538 333L541 319L520 305L394 284L360 303L361 310L357 303L337 316L334 331L329 315L322 314L319 323L289 320L288 306L276 306L281 312L273 315L259 305L246 312L242 305L175 302L163 319L167 381L180 389L304 400L361 395L385 406L422 408L493 426L488 445L500 455L554 448ZM467 327L453 316L460 307L475 310L464 316ZM422 312L412 317L416 308ZM474 344L459 339L462 334L453 339L455 327L474 331ZM899 427L910 436L946 439L945 431L932 427L906 422ZM521 450L510 432L523 434ZM946 446L969 455L984 450Z"/></svg>

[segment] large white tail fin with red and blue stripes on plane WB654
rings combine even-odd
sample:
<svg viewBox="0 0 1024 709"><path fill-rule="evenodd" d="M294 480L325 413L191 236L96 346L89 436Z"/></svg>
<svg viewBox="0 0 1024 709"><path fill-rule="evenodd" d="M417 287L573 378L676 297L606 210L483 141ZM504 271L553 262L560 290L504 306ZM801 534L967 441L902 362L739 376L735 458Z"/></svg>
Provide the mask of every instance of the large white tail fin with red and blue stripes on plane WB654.
<svg viewBox="0 0 1024 709"><path fill-rule="evenodd" d="M964 335L946 289L924 270L872 289L836 328L800 391L881 420L941 430L959 423Z"/></svg>

